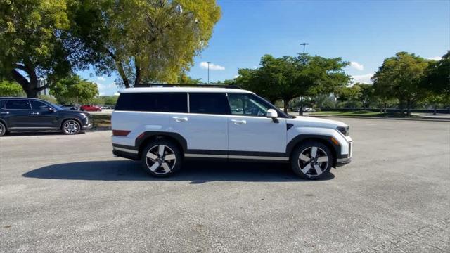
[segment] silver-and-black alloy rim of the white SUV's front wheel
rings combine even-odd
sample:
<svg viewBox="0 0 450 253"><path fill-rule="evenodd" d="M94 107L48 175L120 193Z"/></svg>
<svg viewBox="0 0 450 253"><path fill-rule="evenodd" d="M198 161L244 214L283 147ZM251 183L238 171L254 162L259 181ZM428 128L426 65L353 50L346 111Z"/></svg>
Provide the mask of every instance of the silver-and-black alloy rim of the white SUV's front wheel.
<svg viewBox="0 0 450 253"><path fill-rule="evenodd" d="M328 167L328 154L319 147L305 148L300 152L298 165L303 174L307 176L319 176Z"/></svg>

